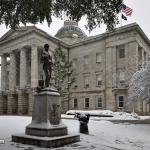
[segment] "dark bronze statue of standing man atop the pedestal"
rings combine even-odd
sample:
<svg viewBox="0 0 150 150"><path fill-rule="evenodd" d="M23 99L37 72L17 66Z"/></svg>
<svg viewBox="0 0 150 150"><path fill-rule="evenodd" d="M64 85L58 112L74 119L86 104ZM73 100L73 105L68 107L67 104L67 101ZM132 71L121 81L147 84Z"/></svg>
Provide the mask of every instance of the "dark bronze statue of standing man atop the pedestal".
<svg viewBox="0 0 150 150"><path fill-rule="evenodd" d="M51 72L52 72L52 57L49 54L49 45L44 45L44 50L42 52L42 58L43 62L43 70L45 74L45 87L49 87L50 84L50 78L51 78Z"/></svg>

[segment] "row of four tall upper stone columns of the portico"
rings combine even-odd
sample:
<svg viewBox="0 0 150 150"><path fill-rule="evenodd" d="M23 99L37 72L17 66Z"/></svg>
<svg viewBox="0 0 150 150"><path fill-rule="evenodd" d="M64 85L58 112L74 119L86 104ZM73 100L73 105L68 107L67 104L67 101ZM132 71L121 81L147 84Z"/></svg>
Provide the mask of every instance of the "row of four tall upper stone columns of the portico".
<svg viewBox="0 0 150 150"><path fill-rule="evenodd" d="M20 50L20 88L25 88L27 84L27 57L26 48L23 47ZM16 89L16 56L15 52L10 53L10 71L9 71L9 87L7 86L7 55L1 56L1 89L5 91L15 91ZM35 88L38 85L38 47L36 45L31 46L31 88Z"/></svg>

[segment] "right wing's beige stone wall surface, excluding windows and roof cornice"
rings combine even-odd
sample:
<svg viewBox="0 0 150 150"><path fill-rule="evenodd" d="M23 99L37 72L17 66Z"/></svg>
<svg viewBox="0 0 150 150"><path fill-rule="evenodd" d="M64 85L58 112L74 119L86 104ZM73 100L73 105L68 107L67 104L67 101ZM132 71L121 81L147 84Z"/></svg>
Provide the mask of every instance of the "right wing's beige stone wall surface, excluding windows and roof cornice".
<svg viewBox="0 0 150 150"><path fill-rule="evenodd" d="M84 108L84 98L90 98L90 108L96 109L95 98L96 94L101 95L104 91L104 109L113 111L132 111L132 107L128 108L128 93L127 89L129 86L132 75L138 70L138 48L142 45L143 50L148 53L150 52L147 44L144 40L139 42L141 37L136 31L124 32L122 34L111 35L106 39L102 39L95 42L89 42L86 44L76 44L70 49L70 60L76 61L74 65L74 77L77 78L76 88L74 85L71 88L72 99L78 99L78 108ZM139 42L139 43L138 43ZM142 44L141 44L142 43ZM119 59L117 54L117 46L125 46L125 58ZM146 48L146 49L145 49ZM96 63L96 54L101 53L101 63ZM88 57L88 65L84 65L84 57ZM125 83L120 83L120 73L125 73ZM96 74L102 76L102 86L96 87ZM84 87L84 77L89 77L89 87ZM114 90L115 89L115 90ZM94 93L97 91L97 93ZM89 93L93 93L89 94ZM125 107L117 107L117 96L123 95L125 100ZM70 101L70 106L73 109L73 100ZM142 106L141 106L142 105ZM142 107L137 109L136 112L141 113L142 111L148 112L148 105L138 104ZM141 109L143 109L141 111Z"/></svg>

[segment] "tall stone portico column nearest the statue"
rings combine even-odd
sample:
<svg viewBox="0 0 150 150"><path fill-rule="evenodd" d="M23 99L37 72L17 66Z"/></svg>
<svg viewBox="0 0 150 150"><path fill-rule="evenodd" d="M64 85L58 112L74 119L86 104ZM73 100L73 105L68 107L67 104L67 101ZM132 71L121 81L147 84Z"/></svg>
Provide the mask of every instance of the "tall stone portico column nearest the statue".
<svg viewBox="0 0 150 150"><path fill-rule="evenodd" d="M38 86L38 49L36 45L31 47L31 88Z"/></svg>

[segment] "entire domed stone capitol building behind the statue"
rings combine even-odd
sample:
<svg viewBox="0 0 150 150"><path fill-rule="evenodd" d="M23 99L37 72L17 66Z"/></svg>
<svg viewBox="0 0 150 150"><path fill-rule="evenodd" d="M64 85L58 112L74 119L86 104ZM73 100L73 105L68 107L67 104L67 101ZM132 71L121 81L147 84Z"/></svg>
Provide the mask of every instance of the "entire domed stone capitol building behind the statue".
<svg viewBox="0 0 150 150"><path fill-rule="evenodd" d="M58 45L72 61L70 96L62 98L68 109L132 111L150 114L150 104L130 104L132 75L150 55L150 41L136 23L88 37L74 21L65 21L55 37L35 26L10 30L0 38L0 114L31 115L38 80L44 78L40 60L43 45L50 53Z"/></svg>

